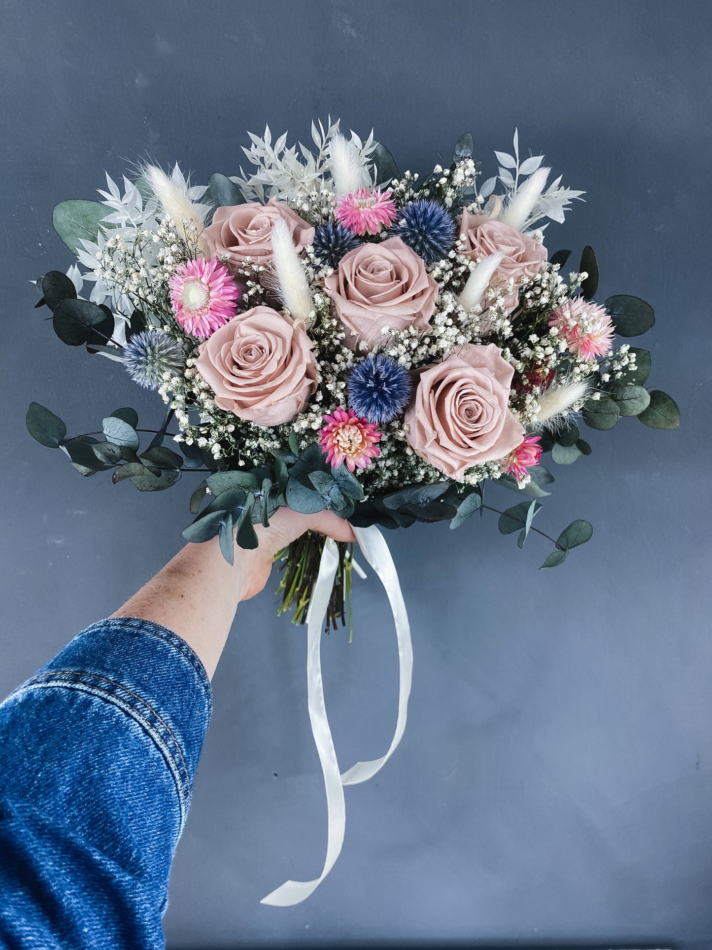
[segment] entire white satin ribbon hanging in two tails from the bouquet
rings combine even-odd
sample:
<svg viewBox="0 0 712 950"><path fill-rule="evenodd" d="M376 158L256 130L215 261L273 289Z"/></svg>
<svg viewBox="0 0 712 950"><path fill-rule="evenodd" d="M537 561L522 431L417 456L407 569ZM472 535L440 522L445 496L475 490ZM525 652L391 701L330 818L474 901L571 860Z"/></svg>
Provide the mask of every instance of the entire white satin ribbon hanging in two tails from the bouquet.
<svg viewBox="0 0 712 950"><path fill-rule="evenodd" d="M319 563L319 574L309 602L307 614L307 696L309 705L309 721L314 736L316 750L324 774L324 786L327 791L328 838L327 857L324 869L314 881L286 881L262 898L260 903L271 904L274 907L290 907L295 903L305 901L336 863L344 845L344 835L347 829L347 809L344 800L344 786L358 785L372 778L379 769L382 769L403 737L405 722L408 714L408 696L413 678L413 646L410 639L410 625L405 611L401 584L396 573L396 566L384 541L384 536L374 525L367 528L354 528L356 540L363 552L365 560L378 574L388 595L393 620L396 625L398 640L398 659L400 680L398 690L398 717L393 739L385 755L369 762L357 762L350 769L340 774L339 762L336 758L331 730L328 728L327 707L324 702L324 683L322 681L321 666L321 637L324 621L327 616L328 601L331 597L336 569L339 565L339 549L336 542L328 538Z"/></svg>

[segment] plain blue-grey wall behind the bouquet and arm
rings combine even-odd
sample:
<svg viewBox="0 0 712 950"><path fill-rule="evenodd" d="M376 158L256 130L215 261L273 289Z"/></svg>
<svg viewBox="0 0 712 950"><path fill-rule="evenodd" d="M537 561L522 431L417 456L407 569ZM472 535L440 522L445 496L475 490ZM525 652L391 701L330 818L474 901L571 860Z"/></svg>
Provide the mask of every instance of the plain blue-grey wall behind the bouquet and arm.
<svg viewBox="0 0 712 950"><path fill-rule="evenodd" d="M421 172L469 129L487 177L517 124L523 150L587 191L547 243L574 257L593 245L602 299L650 300L649 383L683 412L677 432L635 419L590 432L590 458L556 470L539 526L585 517L595 529L563 567L539 573L546 543L519 552L491 516L388 535L415 645L408 729L375 781L347 789L344 853L293 909L258 901L324 857L305 632L276 618L273 579L238 609L178 846L169 946L712 945L710 6L2 8L3 695L174 554L197 481L152 496L84 480L25 430L32 399L70 432L123 405L147 426L162 411L32 310L28 280L70 263L53 205L95 197L104 168L118 180L148 153L197 181L234 174L246 129L267 121L307 141L311 117L330 111L362 135L373 125ZM339 633L323 650L345 766L381 754L396 705L383 592L357 582L355 602L353 643Z"/></svg>

